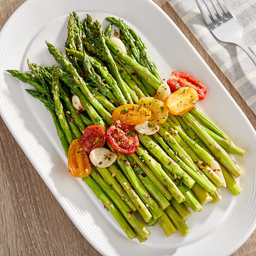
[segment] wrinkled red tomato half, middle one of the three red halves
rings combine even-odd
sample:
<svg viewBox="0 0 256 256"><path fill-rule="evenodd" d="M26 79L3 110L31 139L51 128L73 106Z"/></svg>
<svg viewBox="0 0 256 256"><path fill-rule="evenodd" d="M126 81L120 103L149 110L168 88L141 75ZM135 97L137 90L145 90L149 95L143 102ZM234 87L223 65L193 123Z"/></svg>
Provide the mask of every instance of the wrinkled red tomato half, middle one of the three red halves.
<svg viewBox="0 0 256 256"><path fill-rule="evenodd" d="M106 131L106 138L117 152L123 154L133 154L139 146L137 135L131 127L122 123L111 125Z"/></svg>

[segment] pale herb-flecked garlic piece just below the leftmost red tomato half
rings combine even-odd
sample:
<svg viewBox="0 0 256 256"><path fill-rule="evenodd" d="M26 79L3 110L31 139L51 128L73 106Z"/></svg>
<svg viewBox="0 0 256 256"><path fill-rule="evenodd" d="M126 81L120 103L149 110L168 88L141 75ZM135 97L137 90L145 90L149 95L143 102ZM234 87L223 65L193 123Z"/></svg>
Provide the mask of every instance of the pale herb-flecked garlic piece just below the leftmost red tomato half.
<svg viewBox="0 0 256 256"><path fill-rule="evenodd" d="M92 164L100 168L111 166L117 158L116 154L107 148L94 148L89 157Z"/></svg>

